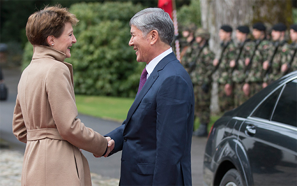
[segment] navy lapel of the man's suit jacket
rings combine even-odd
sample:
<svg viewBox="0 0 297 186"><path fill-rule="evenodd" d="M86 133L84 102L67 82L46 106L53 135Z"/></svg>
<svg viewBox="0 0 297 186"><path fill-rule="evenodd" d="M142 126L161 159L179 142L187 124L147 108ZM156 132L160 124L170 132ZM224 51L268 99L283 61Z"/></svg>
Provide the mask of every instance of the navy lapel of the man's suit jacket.
<svg viewBox="0 0 297 186"><path fill-rule="evenodd" d="M129 120L131 118L131 116L133 115L133 113L135 112L136 108L138 107L139 103L141 102L141 100L143 99L143 97L146 95L147 91L149 91L149 89L152 87L152 85L155 83L155 81L157 80L157 78L159 77L159 71L163 70L163 68L171 61L173 60L177 60L174 53L170 53L169 55L167 55L166 57L164 57L159 63L158 65L155 67L155 69L153 70L152 74L150 75L150 77L146 80L146 82L144 83L141 91L139 92L138 96L136 96L133 104L131 105L128 114L127 114L127 119L126 119L126 125L129 123Z"/></svg>

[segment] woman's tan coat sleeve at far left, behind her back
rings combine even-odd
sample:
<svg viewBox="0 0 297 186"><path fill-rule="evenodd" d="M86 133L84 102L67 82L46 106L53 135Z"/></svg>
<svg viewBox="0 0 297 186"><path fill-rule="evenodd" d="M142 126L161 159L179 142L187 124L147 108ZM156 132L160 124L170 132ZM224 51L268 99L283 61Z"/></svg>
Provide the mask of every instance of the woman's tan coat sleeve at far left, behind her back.
<svg viewBox="0 0 297 186"><path fill-rule="evenodd" d="M21 142L27 143L27 128L25 126L22 109L20 106L19 98L17 96L16 106L13 116L13 133Z"/></svg>

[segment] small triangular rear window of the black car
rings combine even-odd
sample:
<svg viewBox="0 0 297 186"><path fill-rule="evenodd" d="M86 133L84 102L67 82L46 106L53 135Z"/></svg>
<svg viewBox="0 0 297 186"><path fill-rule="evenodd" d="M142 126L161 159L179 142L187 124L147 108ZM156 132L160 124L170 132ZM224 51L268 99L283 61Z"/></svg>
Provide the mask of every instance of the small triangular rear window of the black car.
<svg viewBox="0 0 297 186"><path fill-rule="evenodd" d="M282 87L278 88L276 91L273 92L272 95L269 96L253 113L252 117L258 117L269 120L275 105L275 102L278 98L279 92Z"/></svg>

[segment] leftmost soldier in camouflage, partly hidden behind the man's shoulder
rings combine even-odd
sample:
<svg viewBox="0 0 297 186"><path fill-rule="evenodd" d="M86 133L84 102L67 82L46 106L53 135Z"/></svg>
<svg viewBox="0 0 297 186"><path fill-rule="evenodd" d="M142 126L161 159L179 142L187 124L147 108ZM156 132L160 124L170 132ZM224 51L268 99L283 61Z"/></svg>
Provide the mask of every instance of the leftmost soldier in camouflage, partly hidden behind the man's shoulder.
<svg viewBox="0 0 297 186"><path fill-rule="evenodd" d="M186 30L183 31L183 36L186 37L187 45L185 45L181 51L180 63L183 65L183 67L188 73L190 73L193 70L193 59L191 59L191 55L193 53L193 44L195 40L194 32L195 32L195 26L192 24L189 25L186 28Z"/></svg>

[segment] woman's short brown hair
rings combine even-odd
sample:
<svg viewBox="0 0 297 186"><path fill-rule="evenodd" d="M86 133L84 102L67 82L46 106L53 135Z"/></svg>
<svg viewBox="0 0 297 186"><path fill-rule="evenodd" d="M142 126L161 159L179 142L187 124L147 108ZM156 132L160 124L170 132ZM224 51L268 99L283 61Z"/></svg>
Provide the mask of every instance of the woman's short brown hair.
<svg viewBox="0 0 297 186"><path fill-rule="evenodd" d="M33 13L26 25L26 35L31 44L48 46L47 36L54 35L59 38L69 22L72 26L78 23L74 14L68 12L61 5L45 6L43 10Z"/></svg>

